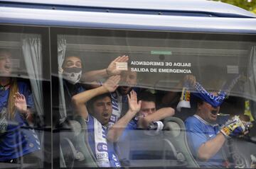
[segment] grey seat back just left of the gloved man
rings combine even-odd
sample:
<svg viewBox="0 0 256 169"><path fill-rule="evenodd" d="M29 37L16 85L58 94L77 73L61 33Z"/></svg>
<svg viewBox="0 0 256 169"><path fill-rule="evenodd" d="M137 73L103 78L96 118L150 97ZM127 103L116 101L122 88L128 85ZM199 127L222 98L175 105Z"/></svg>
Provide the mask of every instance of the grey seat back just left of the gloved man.
<svg viewBox="0 0 256 169"><path fill-rule="evenodd" d="M188 168L198 168L199 165L193 158L186 138L186 127L183 121L177 117L167 117L164 120L165 138L174 144L178 158L184 158Z"/></svg>

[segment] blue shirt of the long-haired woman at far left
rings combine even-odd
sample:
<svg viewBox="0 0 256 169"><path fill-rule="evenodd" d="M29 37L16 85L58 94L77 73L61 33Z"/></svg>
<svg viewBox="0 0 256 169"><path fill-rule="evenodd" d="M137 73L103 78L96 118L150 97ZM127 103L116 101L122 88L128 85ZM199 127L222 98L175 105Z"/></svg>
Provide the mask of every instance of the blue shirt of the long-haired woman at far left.
<svg viewBox="0 0 256 169"><path fill-rule="evenodd" d="M18 82L18 92L26 98L28 108L33 107L33 97L26 83ZM18 158L40 149L36 132L28 128L28 122L16 112L13 120L6 118L9 89L0 91L0 161ZM5 114L5 115L4 115ZM6 124L6 125L5 125Z"/></svg>

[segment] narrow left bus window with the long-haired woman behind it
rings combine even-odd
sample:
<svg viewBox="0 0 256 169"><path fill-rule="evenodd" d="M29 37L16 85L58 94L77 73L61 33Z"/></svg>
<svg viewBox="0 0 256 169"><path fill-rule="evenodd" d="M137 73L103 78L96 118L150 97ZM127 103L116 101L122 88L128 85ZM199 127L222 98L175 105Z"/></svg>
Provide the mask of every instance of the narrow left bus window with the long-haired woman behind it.
<svg viewBox="0 0 256 169"><path fill-rule="evenodd" d="M36 28L18 28L0 32L0 168L43 168L45 49Z"/></svg>

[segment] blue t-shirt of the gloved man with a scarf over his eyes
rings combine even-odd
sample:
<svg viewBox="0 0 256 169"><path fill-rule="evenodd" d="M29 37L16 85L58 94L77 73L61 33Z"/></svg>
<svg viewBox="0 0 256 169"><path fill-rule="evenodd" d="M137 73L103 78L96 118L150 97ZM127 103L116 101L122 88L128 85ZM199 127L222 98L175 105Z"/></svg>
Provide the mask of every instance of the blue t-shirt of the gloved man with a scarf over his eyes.
<svg viewBox="0 0 256 169"><path fill-rule="evenodd" d="M193 156L198 159L198 148L215 138L215 136L220 132L218 124L210 124L205 120L201 119L198 115L193 115L188 117L185 121L186 134L188 138L188 145L190 146ZM203 167L224 167L225 158L223 157L222 150L218 151L212 158L208 161L199 161L198 164Z"/></svg>

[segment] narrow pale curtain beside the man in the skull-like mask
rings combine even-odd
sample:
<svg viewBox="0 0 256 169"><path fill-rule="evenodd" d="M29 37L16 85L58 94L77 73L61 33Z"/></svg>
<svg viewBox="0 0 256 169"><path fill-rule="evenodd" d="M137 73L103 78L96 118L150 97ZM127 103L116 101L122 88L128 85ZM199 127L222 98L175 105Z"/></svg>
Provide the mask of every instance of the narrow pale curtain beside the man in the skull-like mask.
<svg viewBox="0 0 256 169"><path fill-rule="evenodd" d="M67 42L65 40L65 37L58 36L58 73L59 73L59 82L60 82L60 91L59 91L59 100L60 100L60 123L65 121L65 118L67 117L67 112L65 109L65 95L64 95L64 89L63 89L63 78L62 78L62 65L65 59L65 50L67 47Z"/></svg>

